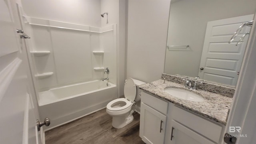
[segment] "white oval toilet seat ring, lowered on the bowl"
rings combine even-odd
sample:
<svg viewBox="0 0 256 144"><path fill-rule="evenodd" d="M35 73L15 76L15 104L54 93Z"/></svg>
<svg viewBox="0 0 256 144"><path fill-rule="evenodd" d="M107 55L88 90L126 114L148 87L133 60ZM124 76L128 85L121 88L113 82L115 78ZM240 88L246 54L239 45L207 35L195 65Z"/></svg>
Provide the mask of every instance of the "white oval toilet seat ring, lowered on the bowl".
<svg viewBox="0 0 256 144"><path fill-rule="evenodd" d="M124 105L123 107L111 107L113 104L116 104L116 103L121 103L121 102L124 102L126 103L126 105ZM124 99L124 98L119 98L119 99L115 99L111 102L108 103L107 105L107 109L110 110L110 111L120 111L120 110L124 110L128 107L130 107L132 105L132 103L130 101L128 101L127 99Z"/></svg>

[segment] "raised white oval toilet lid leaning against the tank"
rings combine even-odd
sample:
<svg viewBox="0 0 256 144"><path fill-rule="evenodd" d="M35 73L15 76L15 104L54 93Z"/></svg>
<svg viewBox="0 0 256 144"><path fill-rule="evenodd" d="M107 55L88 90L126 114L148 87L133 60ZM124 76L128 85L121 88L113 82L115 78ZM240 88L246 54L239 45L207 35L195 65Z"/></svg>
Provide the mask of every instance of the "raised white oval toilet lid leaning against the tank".
<svg viewBox="0 0 256 144"><path fill-rule="evenodd" d="M124 97L129 101L134 101L136 97L136 85L132 78L126 79L124 83Z"/></svg>

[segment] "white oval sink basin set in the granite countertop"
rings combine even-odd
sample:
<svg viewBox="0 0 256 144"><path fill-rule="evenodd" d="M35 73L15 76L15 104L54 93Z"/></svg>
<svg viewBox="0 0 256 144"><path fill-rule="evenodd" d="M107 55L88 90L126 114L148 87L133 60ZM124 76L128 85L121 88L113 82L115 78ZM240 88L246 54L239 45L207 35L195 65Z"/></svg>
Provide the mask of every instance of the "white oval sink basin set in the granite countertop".
<svg viewBox="0 0 256 144"><path fill-rule="evenodd" d="M188 101L204 101L204 98L200 95L197 95L196 93L193 93L191 91L187 91L185 89L177 89L177 88L165 88L164 91L166 93L177 97L179 99L185 99Z"/></svg>

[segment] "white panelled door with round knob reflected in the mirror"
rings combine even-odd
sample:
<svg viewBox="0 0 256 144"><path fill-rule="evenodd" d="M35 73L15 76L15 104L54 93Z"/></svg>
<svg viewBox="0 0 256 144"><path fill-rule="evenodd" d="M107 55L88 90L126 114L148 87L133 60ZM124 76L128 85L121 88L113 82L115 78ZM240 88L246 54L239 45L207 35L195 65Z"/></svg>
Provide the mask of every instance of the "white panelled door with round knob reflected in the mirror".
<svg viewBox="0 0 256 144"><path fill-rule="evenodd" d="M236 43L250 27L244 27L232 43L228 41L242 23L252 19L253 14L208 22L198 73L201 79L236 85L248 36L243 43Z"/></svg>

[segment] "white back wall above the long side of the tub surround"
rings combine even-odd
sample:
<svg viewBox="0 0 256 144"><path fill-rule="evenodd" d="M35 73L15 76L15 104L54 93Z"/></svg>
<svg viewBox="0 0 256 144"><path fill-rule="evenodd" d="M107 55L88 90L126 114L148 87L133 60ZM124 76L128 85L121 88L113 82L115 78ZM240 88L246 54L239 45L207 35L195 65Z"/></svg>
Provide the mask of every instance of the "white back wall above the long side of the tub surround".
<svg viewBox="0 0 256 144"><path fill-rule="evenodd" d="M21 0L30 17L100 27L100 0Z"/></svg>

